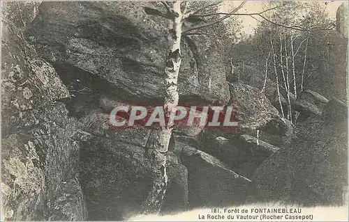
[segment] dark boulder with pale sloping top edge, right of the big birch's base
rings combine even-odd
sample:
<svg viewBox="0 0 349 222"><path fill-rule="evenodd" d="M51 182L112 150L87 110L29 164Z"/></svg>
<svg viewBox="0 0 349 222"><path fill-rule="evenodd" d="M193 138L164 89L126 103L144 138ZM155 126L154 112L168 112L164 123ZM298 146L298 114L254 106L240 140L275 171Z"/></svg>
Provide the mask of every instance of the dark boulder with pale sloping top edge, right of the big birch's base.
<svg viewBox="0 0 349 222"><path fill-rule="evenodd" d="M226 164L184 143L176 143L181 162L188 168L189 207L223 207L243 204L251 192L251 180Z"/></svg>

